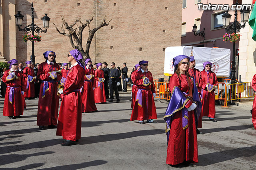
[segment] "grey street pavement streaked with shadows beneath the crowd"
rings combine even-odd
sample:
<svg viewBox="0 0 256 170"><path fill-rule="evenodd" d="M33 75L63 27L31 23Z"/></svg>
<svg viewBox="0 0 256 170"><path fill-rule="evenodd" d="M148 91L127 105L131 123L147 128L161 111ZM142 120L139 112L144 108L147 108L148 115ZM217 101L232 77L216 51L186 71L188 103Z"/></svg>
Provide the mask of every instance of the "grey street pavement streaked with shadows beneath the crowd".
<svg viewBox="0 0 256 170"><path fill-rule="evenodd" d="M130 121L130 93L120 103L96 104L98 113L82 114L82 137L63 147L56 129L36 126L38 99L26 100L20 119L0 116L0 170L168 170L164 113L155 100L158 124ZM0 99L2 114L4 99ZM216 120L203 118L198 135L199 163L191 170L254 170L256 131L249 107L216 106Z"/></svg>

